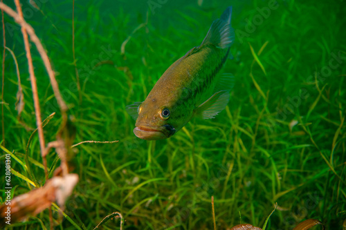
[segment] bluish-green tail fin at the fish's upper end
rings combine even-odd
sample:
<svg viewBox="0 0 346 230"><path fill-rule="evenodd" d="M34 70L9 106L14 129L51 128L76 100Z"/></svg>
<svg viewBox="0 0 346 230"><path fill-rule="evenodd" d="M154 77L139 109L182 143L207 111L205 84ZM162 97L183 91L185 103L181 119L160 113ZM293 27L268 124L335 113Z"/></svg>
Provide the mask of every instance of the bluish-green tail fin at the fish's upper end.
<svg viewBox="0 0 346 230"><path fill-rule="evenodd" d="M232 16L232 6L229 6L220 19L212 22L212 26L207 36L202 41L201 46L205 44L213 44L218 48L229 48L235 40L235 32L230 26L230 18Z"/></svg>

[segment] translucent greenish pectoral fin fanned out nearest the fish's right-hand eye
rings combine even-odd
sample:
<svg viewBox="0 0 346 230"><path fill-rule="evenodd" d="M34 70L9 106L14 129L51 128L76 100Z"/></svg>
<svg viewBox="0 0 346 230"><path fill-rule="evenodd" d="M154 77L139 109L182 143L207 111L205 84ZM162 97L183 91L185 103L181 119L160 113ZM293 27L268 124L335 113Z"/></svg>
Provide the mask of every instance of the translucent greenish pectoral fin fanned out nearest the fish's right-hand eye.
<svg viewBox="0 0 346 230"><path fill-rule="evenodd" d="M212 95L206 102L203 102L194 111L194 116L203 119L214 118L226 107L230 94L226 90L221 90Z"/></svg>

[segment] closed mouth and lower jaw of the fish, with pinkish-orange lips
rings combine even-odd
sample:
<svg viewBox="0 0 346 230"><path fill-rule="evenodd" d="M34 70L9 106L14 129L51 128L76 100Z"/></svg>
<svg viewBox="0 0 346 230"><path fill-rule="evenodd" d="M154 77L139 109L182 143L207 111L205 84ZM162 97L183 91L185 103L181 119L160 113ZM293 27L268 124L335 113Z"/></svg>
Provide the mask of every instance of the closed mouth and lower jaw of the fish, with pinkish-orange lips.
<svg viewBox="0 0 346 230"><path fill-rule="evenodd" d="M134 128L134 135L143 140L162 140L171 137L175 133L175 129L171 125L165 124L157 128L137 126Z"/></svg>

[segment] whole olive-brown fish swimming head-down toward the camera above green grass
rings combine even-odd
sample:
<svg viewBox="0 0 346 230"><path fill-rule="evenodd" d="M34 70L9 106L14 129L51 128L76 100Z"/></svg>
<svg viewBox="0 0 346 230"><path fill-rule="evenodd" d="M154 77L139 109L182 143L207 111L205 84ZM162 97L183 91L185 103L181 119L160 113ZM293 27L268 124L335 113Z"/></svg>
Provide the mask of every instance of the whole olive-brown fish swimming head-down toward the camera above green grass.
<svg viewBox="0 0 346 230"><path fill-rule="evenodd" d="M234 77L219 72L235 40L231 15L232 6L212 22L200 46L165 70L144 102L126 106L136 120L137 137L163 140L181 130L192 117L211 119L226 108Z"/></svg>

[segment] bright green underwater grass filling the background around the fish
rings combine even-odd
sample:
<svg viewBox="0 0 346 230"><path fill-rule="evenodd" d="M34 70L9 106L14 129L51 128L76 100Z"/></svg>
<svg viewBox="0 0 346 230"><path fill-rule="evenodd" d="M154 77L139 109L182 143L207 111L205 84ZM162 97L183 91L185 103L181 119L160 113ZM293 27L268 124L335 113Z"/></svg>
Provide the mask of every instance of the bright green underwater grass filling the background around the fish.
<svg viewBox="0 0 346 230"><path fill-rule="evenodd" d="M81 104L78 90L71 84L77 81L71 50L71 15L59 10L65 7L72 12L71 2L50 3L50 8L43 8L58 29L64 31L66 26L68 32L53 32L48 19L43 19L45 23L31 19L34 27L49 31L36 30L38 37L47 41L44 45L59 73L63 97L75 116L75 143L120 140L115 145L83 144L75 148L74 171L79 173L80 183L66 204L58 228L75 229L76 224L84 229L84 224L86 229L93 229L104 217L118 211L126 220L123 229L212 229L210 199L214 196L217 229L239 224L239 211L242 222L262 227L275 202L277 210L266 229L292 229L307 218L318 218L328 229L338 229L345 220L346 146L345 76L337 76L345 75L345 64L340 64L324 82L317 79L318 88L314 72L328 65L331 52L346 50L342 42L345 19L338 17L342 10L337 3L325 8L312 1L310 5L285 2L287 5L273 11L243 44L236 42L233 46L235 58L227 62L225 71L235 75L236 87L226 110L212 120L193 119L169 140L152 143L134 136L134 120L125 112L125 106L143 101L163 71L200 44L212 19L224 8L194 10L198 17L192 17L183 4L178 7L167 3L156 9L155 15L149 15L147 28L132 35L121 55L121 44L145 22L145 17L134 19L130 15L136 10L121 10L120 5L106 14L110 16L107 21L101 16L101 8L107 11L104 2L98 6L76 3L75 58L80 69ZM257 14L255 8L266 4L251 1L244 5L238 17L235 14L233 27L244 30L244 18L252 20ZM175 18L165 18L167 8L174 9ZM82 16L84 10L87 14ZM322 12L325 19L320 17ZM160 23L156 23L158 19ZM185 21L188 22L183 25ZM161 23L169 26L158 26ZM246 41L266 75L257 63L251 70L254 57ZM12 42L16 48L22 45L17 40ZM109 45L116 52L100 59L101 46ZM24 81L28 77L25 55L13 50L21 68L26 100L21 120L36 128L30 86ZM237 51L241 53L237 55ZM37 54L33 59L38 60ZM93 68L97 63L100 66ZM41 68L35 66L37 76L44 75ZM17 86L15 65L6 58L6 149L11 153L14 150L23 164L28 164L22 155L26 153L34 178L15 160L13 169L42 184L42 167L33 163L42 162L37 154L37 136L30 140L26 151L32 131L26 131L16 119L15 93L10 92L17 92ZM301 89L307 90L303 95L309 97L300 97ZM42 115L48 117L55 107L51 104L54 98L48 79L40 77L38 90ZM58 117L59 111L44 127L47 141L55 137L61 122ZM290 129L294 120L298 124ZM59 160L48 155L47 161L51 175ZM25 180L15 175L12 180L19 185L15 195L28 191ZM48 222L48 211L37 218L17 227L41 229L42 222ZM119 229L119 221L109 220L102 227Z"/></svg>

